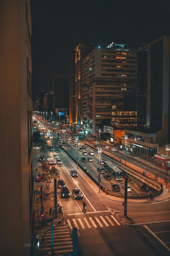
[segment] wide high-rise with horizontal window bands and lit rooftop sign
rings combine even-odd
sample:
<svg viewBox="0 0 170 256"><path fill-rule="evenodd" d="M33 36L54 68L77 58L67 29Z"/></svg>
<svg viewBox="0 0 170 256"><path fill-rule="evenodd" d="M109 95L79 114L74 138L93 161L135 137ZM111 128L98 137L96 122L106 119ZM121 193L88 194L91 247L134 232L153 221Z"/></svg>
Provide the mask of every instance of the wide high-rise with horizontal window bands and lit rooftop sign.
<svg viewBox="0 0 170 256"><path fill-rule="evenodd" d="M137 77L137 50L94 48L82 60L82 111L86 133L96 134L111 119L111 99L131 95ZM121 47L120 47L121 46ZM122 47L123 46L123 47Z"/></svg>

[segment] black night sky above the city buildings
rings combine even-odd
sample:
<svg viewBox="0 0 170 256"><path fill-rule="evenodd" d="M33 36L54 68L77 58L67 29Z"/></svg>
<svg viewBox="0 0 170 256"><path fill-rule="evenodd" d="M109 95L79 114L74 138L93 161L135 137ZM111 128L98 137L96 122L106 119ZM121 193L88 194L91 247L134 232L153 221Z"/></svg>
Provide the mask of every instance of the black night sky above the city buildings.
<svg viewBox="0 0 170 256"><path fill-rule="evenodd" d="M30 0L33 100L52 87L53 74L69 74L69 57L80 43L107 46L114 38L138 49L170 36L169 1Z"/></svg>

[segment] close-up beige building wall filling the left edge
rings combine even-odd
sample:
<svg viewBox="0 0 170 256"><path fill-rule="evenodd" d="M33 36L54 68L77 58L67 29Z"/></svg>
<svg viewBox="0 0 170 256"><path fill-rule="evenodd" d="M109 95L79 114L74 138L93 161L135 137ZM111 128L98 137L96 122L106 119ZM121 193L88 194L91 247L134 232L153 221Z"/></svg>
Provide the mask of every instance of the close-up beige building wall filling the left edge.
<svg viewBox="0 0 170 256"><path fill-rule="evenodd" d="M0 31L1 255L34 256L29 0L0 1Z"/></svg>

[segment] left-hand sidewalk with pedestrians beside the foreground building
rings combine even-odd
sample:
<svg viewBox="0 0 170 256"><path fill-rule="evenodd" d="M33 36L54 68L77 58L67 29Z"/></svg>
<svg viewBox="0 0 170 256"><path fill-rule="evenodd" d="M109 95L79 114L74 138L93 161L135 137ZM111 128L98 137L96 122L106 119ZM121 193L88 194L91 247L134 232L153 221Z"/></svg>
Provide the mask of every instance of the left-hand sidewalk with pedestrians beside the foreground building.
<svg viewBox="0 0 170 256"><path fill-rule="evenodd" d="M34 174L34 177L35 177L35 179L34 179L34 191L38 188L38 187L41 187L41 184L43 185L43 189L45 188L45 185L46 185L46 182L39 182L39 181L36 181L36 171L35 171L35 169L37 169L37 174L39 173L39 172L41 172L42 173L42 167L41 167L41 164L40 164L40 162L39 162L39 155L33 155L33 174ZM43 172L44 172L44 170L43 170ZM46 171L45 171L46 172ZM43 192L44 191L48 191L47 189L45 190L43 190ZM44 227L43 228L41 228L41 213L40 213L40 208L41 208L41 201L40 201L40 199L39 199L39 202L37 203L36 202L36 199L35 199L35 196L34 196L34 211L35 211L35 231L37 231L38 233L39 232L43 232L43 231L46 231L46 230L48 230L48 229L50 229L50 217L49 217L49 209L50 209L50 207L52 208L52 209L54 209L54 202L53 202L53 195L51 195L51 192L52 191L54 191L54 184L51 182L50 183L50 190L49 190L49 192L50 192L50 196L48 196L47 198L46 198L46 202L44 202L44 199L43 199L43 207L44 207L44 212L43 212L43 214L44 215L46 215L46 223L45 223L45 225L44 225ZM60 193L60 190L59 189L57 189L57 193ZM40 195L39 195L40 196ZM60 205L62 205L61 204L61 202L60 202L60 199L59 199L59 197L58 197L58 195L57 195L57 203L59 203ZM63 219L64 219L64 211L63 211L63 213L58 213L57 214L57 218L54 218L53 219L53 226L55 226L55 225L57 225L58 223L60 223L61 221L63 221ZM51 217L52 217L52 215L51 215Z"/></svg>

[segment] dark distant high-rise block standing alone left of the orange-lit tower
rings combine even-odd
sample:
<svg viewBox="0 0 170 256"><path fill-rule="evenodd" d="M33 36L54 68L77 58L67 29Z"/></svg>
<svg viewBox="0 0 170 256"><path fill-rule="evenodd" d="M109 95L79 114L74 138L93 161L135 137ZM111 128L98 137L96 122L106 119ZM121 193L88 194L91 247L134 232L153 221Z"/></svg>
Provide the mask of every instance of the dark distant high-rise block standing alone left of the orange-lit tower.
<svg viewBox="0 0 170 256"><path fill-rule="evenodd" d="M54 75L53 106L54 109L69 110L69 75Z"/></svg>

